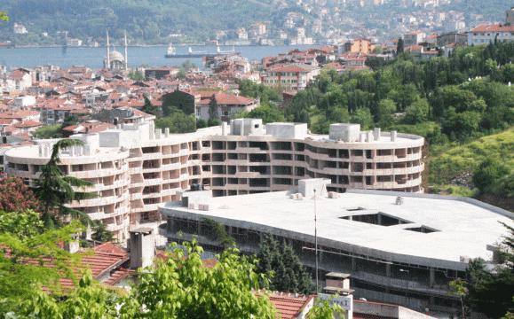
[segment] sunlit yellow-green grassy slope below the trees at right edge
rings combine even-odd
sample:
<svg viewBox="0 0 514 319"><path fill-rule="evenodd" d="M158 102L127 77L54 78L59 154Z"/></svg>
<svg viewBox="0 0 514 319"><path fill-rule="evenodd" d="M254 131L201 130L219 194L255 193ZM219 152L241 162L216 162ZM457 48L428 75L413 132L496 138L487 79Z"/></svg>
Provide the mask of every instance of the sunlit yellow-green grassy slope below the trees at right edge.
<svg viewBox="0 0 514 319"><path fill-rule="evenodd" d="M434 191L445 190L455 195L472 196L473 192L465 187L450 187L447 184L456 176L472 173L486 158L500 159L507 166L514 167L514 128L432 155L431 186L435 186Z"/></svg>

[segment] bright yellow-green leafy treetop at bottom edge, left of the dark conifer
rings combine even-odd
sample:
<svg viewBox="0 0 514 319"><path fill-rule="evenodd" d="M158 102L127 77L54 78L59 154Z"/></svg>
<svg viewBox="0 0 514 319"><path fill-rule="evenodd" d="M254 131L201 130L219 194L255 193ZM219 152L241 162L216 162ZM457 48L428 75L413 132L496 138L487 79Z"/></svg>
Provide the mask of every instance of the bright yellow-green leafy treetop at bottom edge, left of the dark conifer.
<svg viewBox="0 0 514 319"><path fill-rule="evenodd" d="M265 276L257 274L248 257L228 249L213 268L206 268L202 247L183 245L184 250L175 249L166 261L139 271L138 284L121 309L124 318L275 317L266 294L255 294Z"/></svg>

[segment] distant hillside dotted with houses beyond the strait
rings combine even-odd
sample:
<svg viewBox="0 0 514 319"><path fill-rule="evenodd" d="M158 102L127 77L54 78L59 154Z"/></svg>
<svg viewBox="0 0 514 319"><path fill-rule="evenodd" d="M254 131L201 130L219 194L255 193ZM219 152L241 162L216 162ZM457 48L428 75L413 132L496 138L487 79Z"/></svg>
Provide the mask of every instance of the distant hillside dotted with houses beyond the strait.
<svg viewBox="0 0 514 319"><path fill-rule="evenodd" d="M114 21L116 29L127 30L130 45L342 44L359 37L384 42L413 31L434 35L502 22L505 6L514 5L503 0L231 0L223 7L200 1L191 8L182 0L176 6L123 0L111 9L97 1L89 6L56 0L44 5L5 2L4 9L11 12L12 19L0 26L4 46L71 47L105 45L104 26L114 26ZM48 19L45 10L58 12L60 21ZM200 12L213 16L198 19ZM126 19L124 14L138 19ZM191 27L192 21L195 27Z"/></svg>

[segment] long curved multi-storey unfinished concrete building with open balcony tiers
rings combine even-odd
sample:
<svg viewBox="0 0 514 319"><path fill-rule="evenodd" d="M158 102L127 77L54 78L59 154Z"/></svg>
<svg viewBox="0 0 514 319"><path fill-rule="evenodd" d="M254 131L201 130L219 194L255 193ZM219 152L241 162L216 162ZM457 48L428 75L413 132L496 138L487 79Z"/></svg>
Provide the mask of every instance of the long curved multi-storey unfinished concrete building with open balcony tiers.
<svg viewBox="0 0 514 319"><path fill-rule="evenodd" d="M358 124L333 124L328 136L309 134L304 123L240 119L231 125L170 134L151 118L106 131L71 136L84 142L62 152L60 168L92 183L98 198L69 204L101 220L122 242L140 224L159 222L158 206L191 185L214 196L284 191L305 178L328 178L330 191L347 188L423 191L423 137L361 132ZM7 174L36 180L55 140L36 141L4 154Z"/></svg>

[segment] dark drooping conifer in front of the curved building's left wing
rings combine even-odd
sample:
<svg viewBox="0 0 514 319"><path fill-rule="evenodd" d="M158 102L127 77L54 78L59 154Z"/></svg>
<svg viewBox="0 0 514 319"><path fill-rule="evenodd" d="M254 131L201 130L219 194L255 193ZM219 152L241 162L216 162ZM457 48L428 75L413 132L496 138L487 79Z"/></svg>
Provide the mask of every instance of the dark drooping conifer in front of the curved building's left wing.
<svg viewBox="0 0 514 319"><path fill-rule="evenodd" d="M60 168L60 152L74 146L82 146L83 142L76 139L62 139L53 145L48 162L41 167L41 175L36 180L36 196L43 203L43 220L51 227L59 218L71 216L82 222L91 222L89 216L82 211L65 206L72 200L92 198L96 194L75 191L91 186L91 183L70 175ZM75 189L74 189L75 188Z"/></svg>

